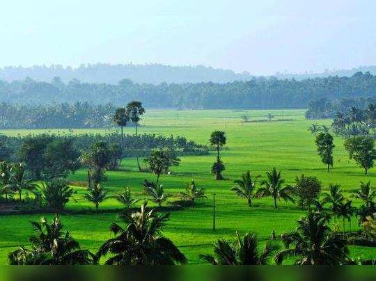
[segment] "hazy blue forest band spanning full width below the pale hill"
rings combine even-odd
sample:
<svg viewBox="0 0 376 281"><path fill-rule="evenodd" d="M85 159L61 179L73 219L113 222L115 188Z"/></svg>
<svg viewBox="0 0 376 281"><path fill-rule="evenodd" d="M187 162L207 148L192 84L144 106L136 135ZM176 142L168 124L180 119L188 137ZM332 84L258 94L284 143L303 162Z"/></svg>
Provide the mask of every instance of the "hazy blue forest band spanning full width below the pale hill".
<svg viewBox="0 0 376 281"><path fill-rule="evenodd" d="M139 100L151 108L178 109L302 109L313 99L373 97L376 77L357 72L352 77L327 77L279 80L253 78L230 83L134 83L128 79L117 85L81 83L72 79L63 83L0 81L0 101L10 104L49 104L77 101L116 105Z"/></svg>

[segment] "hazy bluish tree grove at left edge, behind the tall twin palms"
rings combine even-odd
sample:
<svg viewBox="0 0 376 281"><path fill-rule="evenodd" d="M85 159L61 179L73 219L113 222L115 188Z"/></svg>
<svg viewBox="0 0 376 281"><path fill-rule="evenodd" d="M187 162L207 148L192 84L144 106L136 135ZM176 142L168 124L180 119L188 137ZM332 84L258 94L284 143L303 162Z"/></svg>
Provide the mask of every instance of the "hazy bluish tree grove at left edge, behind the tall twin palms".
<svg viewBox="0 0 376 281"><path fill-rule="evenodd" d="M88 102L45 105L0 104L0 129L104 128L113 127L113 104Z"/></svg>

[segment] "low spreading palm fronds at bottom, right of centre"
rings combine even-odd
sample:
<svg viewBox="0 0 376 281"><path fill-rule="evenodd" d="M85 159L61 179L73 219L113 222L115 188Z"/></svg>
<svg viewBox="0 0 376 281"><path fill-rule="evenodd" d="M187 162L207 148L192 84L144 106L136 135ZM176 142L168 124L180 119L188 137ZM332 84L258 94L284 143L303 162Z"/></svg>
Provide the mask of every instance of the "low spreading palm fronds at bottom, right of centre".
<svg viewBox="0 0 376 281"><path fill-rule="evenodd" d="M219 239L214 244L213 255L200 255L201 259L217 265L265 265L269 257L278 248L267 242L262 252L258 250L258 240L255 233L247 233L243 238L236 232L236 240L229 243Z"/></svg>

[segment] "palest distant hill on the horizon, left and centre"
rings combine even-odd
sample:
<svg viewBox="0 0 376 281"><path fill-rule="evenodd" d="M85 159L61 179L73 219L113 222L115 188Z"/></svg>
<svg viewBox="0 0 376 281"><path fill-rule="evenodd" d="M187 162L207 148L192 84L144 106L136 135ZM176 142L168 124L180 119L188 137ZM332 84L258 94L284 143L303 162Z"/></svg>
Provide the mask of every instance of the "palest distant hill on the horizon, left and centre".
<svg viewBox="0 0 376 281"><path fill-rule="evenodd" d="M252 77L249 73L235 73L233 70L214 69L212 67L171 66L171 65L110 65L103 63L81 65L77 68L61 65L35 65L33 67L3 67L0 68L0 80L19 81L25 78L35 81L52 81L60 77L67 83L78 79L86 83L117 84L122 79L130 79L136 83L158 84L167 83L226 83L231 81L246 81Z"/></svg>

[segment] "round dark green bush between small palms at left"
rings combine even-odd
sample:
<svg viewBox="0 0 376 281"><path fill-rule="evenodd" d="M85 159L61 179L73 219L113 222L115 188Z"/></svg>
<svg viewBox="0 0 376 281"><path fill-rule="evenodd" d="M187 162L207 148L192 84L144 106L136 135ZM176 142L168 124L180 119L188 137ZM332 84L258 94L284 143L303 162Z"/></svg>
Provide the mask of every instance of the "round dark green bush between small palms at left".
<svg viewBox="0 0 376 281"><path fill-rule="evenodd" d="M56 211L63 211L75 193L73 188L63 179L52 179L50 182L42 182L41 184L42 198L47 202L47 207Z"/></svg>

